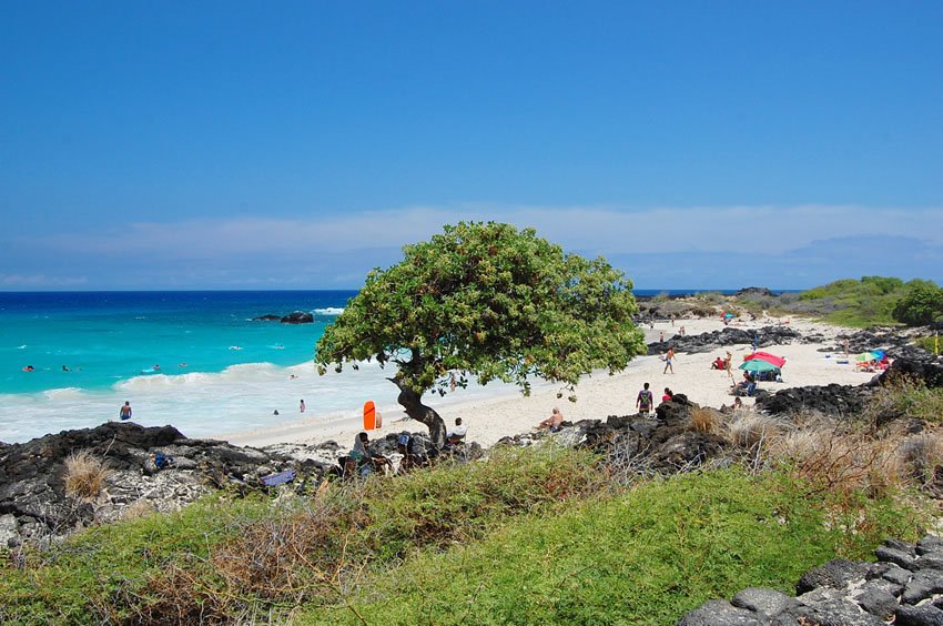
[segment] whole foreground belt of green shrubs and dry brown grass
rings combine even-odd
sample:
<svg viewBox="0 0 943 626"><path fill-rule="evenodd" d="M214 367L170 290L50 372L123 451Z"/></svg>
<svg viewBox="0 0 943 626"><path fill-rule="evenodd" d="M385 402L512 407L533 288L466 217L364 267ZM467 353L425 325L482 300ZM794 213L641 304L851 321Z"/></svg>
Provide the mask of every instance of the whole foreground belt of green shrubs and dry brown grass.
<svg viewBox="0 0 943 626"><path fill-rule="evenodd" d="M4 569L0 619L670 624L925 532L932 431L706 413L729 454L670 476L546 443L93 527Z"/></svg>

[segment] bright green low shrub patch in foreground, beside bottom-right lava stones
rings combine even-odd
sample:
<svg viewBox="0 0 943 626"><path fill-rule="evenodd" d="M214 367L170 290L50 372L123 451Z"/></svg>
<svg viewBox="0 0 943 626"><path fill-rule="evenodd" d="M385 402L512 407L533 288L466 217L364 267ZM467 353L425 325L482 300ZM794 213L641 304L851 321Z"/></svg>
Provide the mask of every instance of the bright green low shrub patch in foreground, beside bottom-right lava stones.
<svg viewBox="0 0 943 626"><path fill-rule="evenodd" d="M298 623L673 624L744 587L792 593L830 558L916 538L922 519L888 499L812 495L787 474L680 475L416 555Z"/></svg>

